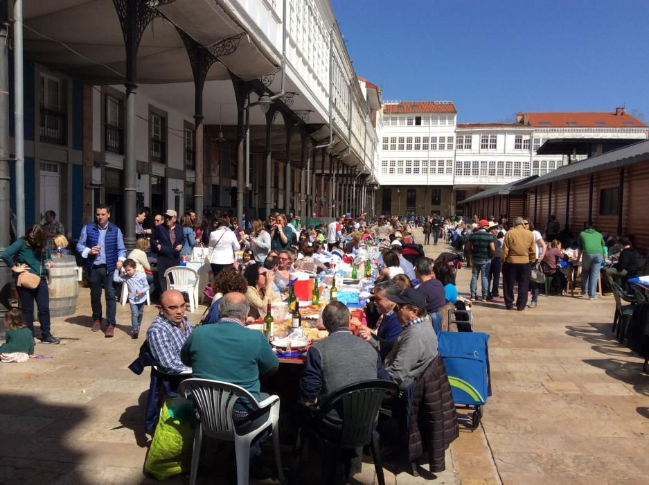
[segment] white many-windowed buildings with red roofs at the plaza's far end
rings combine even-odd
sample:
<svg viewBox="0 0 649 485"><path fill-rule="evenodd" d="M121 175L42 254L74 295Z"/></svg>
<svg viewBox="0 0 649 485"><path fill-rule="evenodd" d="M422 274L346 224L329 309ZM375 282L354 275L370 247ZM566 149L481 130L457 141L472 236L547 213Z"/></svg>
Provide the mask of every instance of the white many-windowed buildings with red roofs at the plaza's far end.
<svg viewBox="0 0 649 485"><path fill-rule="evenodd" d="M621 141L646 139L649 133L647 125L623 108L614 112L521 112L515 123L456 123L454 107L452 116L418 112L419 107L436 105L450 107L452 103L384 104L378 130L382 189L377 195L377 213L455 213L461 211L457 202L474 193L546 175L588 156L583 150L544 155L552 151L542 150L548 141L571 145L583 141L591 155L598 155Z"/></svg>

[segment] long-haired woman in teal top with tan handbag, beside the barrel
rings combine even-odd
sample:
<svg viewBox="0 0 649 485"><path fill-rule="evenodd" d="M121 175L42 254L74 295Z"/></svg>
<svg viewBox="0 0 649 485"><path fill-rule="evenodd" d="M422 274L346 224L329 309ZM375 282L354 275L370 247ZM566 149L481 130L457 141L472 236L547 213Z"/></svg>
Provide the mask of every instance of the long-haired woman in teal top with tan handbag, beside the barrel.
<svg viewBox="0 0 649 485"><path fill-rule="evenodd" d="M40 224L32 224L25 236L16 240L2 253L2 259L17 274L18 299L23 319L34 333L34 301L38 305L38 321L41 324L41 342L58 344L50 330L50 294L47 287L47 267L52 267L45 230Z"/></svg>

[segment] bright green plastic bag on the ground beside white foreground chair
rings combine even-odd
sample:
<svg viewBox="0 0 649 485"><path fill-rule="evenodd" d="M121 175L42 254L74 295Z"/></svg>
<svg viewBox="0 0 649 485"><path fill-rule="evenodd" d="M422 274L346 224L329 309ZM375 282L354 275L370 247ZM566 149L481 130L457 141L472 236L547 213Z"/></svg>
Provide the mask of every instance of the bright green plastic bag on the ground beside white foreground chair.
<svg viewBox="0 0 649 485"><path fill-rule="evenodd" d="M160 411L145 470L158 480L189 472L196 425L190 400L167 398Z"/></svg>

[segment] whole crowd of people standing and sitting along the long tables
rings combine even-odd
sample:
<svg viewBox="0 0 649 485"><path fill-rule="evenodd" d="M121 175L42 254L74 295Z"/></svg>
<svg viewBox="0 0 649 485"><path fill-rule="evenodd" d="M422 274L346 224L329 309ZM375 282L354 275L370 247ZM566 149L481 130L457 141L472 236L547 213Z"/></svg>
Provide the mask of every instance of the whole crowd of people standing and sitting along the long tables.
<svg viewBox="0 0 649 485"><path fill-rule="evenodd" d="M139 337L146 297L159 303L146 341L161 372L231 382L258 400L264 397L260 377L277 371L278 358L263 333L248 330L247 324L267 304L287 299L295 272L327 273L341 261L353 263L367 247L379 247L380 255L370 265L374 281L365 308L367 324L358 324L353 335L353 317L344 303L332 299L323 309L328 337L305 355L300 384L304 407L353 382L374 378L391 380L408 394L438 358L444 314L462 301L455 285L457 268L446 258L424 256L413 236L415 227L423 231L423 245L430 244L432 235L434 245L442 238L463 253L472 271L468 304L503 301L508 310L525 310L530 296L529 307L537 306L540 273L556 276L564 294L568 279L562 267L580 264L582 294L592 300L601 265L612 278L622 279L637 272L639 258L627 236L610 238L589 226L572 238L567 229L560 231L554 217L542 234L524 217L509 222L476 215L470 220L395 215L369 221L366 214L346 214L320 222L313 214L302 224L293 214L271 213L267 220L239 224L230 213L208 213L197 220L192 211L178 218L172 209L154 215L143 209L134 220L136 247L130 252L110 217L109 207L98 204L94 221L82 227L75 245L90 288L91 330L100 331L105 317L104 335L114 336L115 284L121 283L130 303L132 338ZM14 353L33 354L34 302L41 341L59 342L51 333L46 273L55 264L52 251L67 249L67 241L60 240L63 231L55 214L46 213L46 225L33 224L2 254L17 275L21 307L9 313L8 343L0 347L0 354L10 359L22 358ZM194 328L185 314L184 295L168 290L164 272L190 258L197 247L208 248L212 279L204 290L212 301L202 325ZM263 418L245 401L234 413L240 430ZM334 432L340 429L335 416L328 425Z"/></svg>

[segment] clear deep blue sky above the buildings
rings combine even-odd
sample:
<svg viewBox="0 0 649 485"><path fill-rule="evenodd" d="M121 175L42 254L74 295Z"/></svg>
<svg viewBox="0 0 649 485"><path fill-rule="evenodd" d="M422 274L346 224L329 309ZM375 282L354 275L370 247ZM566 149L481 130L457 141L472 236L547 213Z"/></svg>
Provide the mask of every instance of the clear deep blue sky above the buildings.
<svg viewBox="0 0 649 485"><path fill-rule="evenodd" d="M331 3L384 100L451 100L460 123L618 105L649 123L649 0Z"/></svg>

